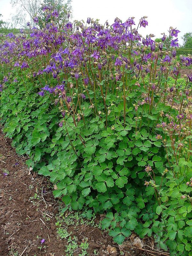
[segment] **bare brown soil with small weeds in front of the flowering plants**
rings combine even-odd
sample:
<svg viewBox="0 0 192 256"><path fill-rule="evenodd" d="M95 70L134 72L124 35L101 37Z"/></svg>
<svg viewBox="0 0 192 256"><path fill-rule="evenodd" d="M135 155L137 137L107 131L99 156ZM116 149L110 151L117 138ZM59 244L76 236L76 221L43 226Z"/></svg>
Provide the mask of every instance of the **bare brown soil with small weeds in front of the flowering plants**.
<svg viewBox="0 0 192 256"><path fill-rule="evenodd" d="M0 130L0 253L4 256L66 255L68 241L60 238L56 226L62 219L60 201L53 198L49 181L30 172L25 161L26 158L16 154L11 140ZM76 212L67 212L64 216L70 223L74 221L74 225L68 225L66 229L68 234L77 237L78 245L88 243L89 256L169 255L157 251L148 237L143 239L142 248L132 246L134 233L124 245L118 246L107 231L95 227L104 218L102 214L90 221L78 217ZM45 242L41 245L42 239ZM81 251L78 247L73 255L79 255Z"/></svg>

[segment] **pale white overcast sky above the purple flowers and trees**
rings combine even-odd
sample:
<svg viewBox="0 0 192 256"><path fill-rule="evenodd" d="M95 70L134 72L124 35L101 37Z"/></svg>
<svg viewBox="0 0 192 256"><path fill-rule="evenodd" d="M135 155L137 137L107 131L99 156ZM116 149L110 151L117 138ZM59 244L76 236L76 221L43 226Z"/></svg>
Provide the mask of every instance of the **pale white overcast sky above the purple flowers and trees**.
<svg viewBox="0 0 192 256"><path fill-rule="evenodd" d="M4 21L11 21L10 0L0 0L0 13ZM116 17L122 21L135 17L135 23L142 16L148 16L148 27L140 28L143 36L153 33L160 37L167 33L170 26L181 31L182 35L192 32L192 0L73 0L73 20L87 20L87 17L99 19L101 23L108 20L112 24ZM136 23L137 24L137 23Z"/></svg>

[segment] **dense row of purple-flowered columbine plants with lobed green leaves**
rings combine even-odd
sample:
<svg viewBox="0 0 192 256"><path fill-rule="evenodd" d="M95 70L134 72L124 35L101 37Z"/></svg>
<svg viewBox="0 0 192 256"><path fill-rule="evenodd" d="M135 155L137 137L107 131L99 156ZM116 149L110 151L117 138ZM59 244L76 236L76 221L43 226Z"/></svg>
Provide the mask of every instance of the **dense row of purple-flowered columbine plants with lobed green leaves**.
<svg viewBox="0 0 192 256"><path fill-rule="evenodd" d="M134 230L192 255L192 75L176 87L191 56L176 60L177 38L142 38L147 17L136 27L133 18L60 24L57 10L44 12L44 28L28 24L29 35L9 33L0 47L4 132L50 177L63 212L107 212L102 227L117 243Z"/></svg>

